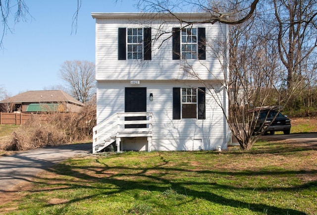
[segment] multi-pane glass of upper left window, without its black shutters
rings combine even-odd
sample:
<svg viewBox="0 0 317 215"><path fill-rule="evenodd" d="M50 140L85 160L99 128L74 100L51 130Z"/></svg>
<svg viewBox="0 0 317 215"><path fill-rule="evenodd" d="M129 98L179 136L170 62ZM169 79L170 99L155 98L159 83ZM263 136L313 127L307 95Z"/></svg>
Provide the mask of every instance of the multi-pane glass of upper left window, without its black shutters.
<svg viewBox="0 0 317 215"><path fill-rule="evenodd" d="M143 29L128 28L127 29L127 46L128 60L143 59Z"/></svg>

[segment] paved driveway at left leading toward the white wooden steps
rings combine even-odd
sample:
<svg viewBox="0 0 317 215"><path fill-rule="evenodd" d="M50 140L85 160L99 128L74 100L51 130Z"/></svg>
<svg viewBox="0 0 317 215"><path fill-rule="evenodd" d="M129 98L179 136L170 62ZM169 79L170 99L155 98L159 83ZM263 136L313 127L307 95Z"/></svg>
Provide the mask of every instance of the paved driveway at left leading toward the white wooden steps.
<svg viewBox="0 0 317 215"><path fill-rule="evenodd" d="M23 181L65 159L90 154L91 143L37 148L0 157L0 192L15 191Z"/></svg>

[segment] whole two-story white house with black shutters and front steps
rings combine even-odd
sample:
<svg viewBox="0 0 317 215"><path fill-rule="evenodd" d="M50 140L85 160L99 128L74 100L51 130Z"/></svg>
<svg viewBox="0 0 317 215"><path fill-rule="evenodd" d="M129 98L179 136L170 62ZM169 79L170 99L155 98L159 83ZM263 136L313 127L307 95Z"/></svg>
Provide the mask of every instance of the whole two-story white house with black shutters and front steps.
<svg viewBox="0 0 317 215"><path fill-rule="evenodd" d="M228 28L197 23L211 19L208 13L176 15L194 24L170 14L92 13L97 79L93 153L109 144L118 151L227 147L230 132L223 112L228 112L228 98L221 87L228 76L227 54L219 58L209 44L226 41ZM215 46L218 53L226 50ZM214 98L221 98L223 110Z"/></svg>

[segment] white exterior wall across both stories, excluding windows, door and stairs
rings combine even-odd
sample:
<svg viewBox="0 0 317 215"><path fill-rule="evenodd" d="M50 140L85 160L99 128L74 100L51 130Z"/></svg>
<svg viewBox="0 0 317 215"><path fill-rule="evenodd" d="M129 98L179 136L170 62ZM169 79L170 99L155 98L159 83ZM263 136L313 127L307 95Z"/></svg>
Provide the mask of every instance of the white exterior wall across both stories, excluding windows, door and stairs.
<svg viewBox="0 0 317 215"><path fill-rule="evenodd" d="M139 17L138 17L139 18ZM225 25L198 24L194 27L206 28L206 60L172 60L172 38L168 33L158 41L152 41L152 60L118 60L119 27L151 27L152 39L156 37L156 28L160 21L147 23L149 19L137 21L124 18L96 18L96 79L97 79L97 124L115 113L124 112L125 87L147 88L147 112L153 113L153 139L151 150L211 150L218 146L227 147L229 128L223 111L212 98L208 89L206 94L206 119L173 120L173 87L205 87L197 77L183 72L183 66L190 64L199 73L201 79L211 81L213 87L218 81L227 78L224 59L219 62L214 41L225 41ZM171 32L173 27L181 27L175 22L166 22L163 29ZM168 38L170 37L170 38ZM165 40L161 43L162 40ZM158 48L161 45L160 48ZM223 51L222 49L218 49ZM226 50L225 50L226 51ZM185 63L185 64L184 64ZM140 84L131 84L130 80L140 80ZM186 83L184 83L186 82ZM223 82L223 81L222 81ZM217 85L220 88L220 85ZM216 87L216 88L217 88ZM153 93L153 101L149 100ZM215 93L215 92L213 92ZM215 94L213 94L215 95ZM227 113L226 93L217 91L221 97L224 111ZM147 150L146 138L125 138L121 141L123 150Z"/></svg>

